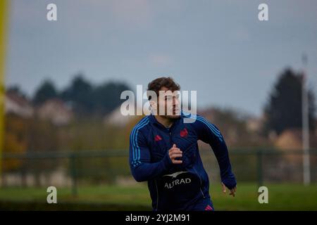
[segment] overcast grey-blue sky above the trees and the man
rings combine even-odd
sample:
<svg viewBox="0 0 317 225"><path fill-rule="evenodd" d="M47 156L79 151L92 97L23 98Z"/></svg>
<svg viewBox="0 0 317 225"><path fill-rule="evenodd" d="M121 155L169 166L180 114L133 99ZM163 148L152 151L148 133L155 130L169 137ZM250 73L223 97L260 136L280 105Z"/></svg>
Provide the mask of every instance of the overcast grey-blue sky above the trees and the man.
<svg viewBox="0 0 317 225"><path fill-rule="evenodd" d="M57 21L46 5L57 5ZM269 21L258 20L268 4ZM13 0L6 85L31 95L45 78L58 89L77 72L130 86L170 75L197 90L199 107L261 115L278 74L302 69L317 92L317 1Z"/></svg>

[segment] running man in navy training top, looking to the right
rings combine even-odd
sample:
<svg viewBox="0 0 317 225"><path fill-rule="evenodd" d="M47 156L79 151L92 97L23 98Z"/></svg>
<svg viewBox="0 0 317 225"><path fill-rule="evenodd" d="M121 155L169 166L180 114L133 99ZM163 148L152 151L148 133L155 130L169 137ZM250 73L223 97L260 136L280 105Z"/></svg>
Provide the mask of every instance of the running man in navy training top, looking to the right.
<svg viewBox="0 0 317 225"><path fill-rule="evenodd" d="M199 115L178 113L178 95L170 93L179 90L180 86L170 77L149 83L148 91L154 91L158 98L148 95L152 113L131 131L131 172L136 181L148 181L153 210L213 210L209 178L197 141L209 143L218 160L223 192L228 188L230 195L235 196L237 182L231 171L228 148L214 124ZM193 122L185 122L191 118Z"/></svg>

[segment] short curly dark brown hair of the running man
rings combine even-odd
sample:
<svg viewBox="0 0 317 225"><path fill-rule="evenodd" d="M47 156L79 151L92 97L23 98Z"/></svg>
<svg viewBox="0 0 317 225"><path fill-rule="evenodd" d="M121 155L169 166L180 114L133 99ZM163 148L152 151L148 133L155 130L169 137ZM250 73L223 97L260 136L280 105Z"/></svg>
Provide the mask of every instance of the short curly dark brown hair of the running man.
<svg viewBox="0 0 317 225"><path fill-rule="evenodd" d="M175 83L172 77L159 77L149 82L147 85L147 91L155 91L156 96L159 97L159 91L163 86L170 91L180 90L180 84ZM151 96L149 96L149 94L147 95L147 98L151 100Z"/></svg>

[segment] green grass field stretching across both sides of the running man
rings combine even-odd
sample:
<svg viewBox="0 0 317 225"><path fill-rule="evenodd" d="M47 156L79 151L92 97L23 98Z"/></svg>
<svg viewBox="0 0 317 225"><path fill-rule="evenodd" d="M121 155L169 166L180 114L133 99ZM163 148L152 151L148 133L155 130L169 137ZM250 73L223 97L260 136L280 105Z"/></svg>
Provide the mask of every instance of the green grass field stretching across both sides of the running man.
<svg viewBox="0 0 317 225"><path fill-rule="evenodd" d="M256 184L239 184L235 198L212 184L216 210L317 210L317 185L266 184L268 204L259 204ZM46 203L46 188L0 188L0 210L151 210L146 185L82 186L73 196L58 188L58 204Z"/></svg>

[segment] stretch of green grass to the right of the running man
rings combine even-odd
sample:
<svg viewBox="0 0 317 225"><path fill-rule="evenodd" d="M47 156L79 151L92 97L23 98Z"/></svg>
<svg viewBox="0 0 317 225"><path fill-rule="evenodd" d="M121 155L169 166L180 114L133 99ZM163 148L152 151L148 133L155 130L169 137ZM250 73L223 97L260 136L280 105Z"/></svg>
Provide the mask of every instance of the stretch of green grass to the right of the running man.
<svg viewBox="0 0 317 225"><path fill-rule="evenodd" d="M237 186L235 198L211 187L216 210L317 210L317 185L266 184L268 204L259 204L258 188L254 184ZM230 198L229 198L230 197Z"/></svg>

